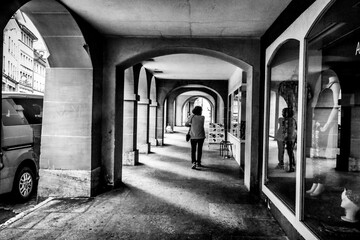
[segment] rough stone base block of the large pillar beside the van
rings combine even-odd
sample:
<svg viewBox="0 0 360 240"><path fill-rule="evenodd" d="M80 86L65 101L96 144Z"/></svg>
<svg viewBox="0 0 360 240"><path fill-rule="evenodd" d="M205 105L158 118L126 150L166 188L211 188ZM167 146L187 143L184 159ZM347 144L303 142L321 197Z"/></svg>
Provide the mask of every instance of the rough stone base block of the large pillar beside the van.
<svg viewBox="0 0 360 240"><path fill-rule="evenodd" d="M100 167L92 170L40 169L38 197L91 197L99 191Z"/></svg>

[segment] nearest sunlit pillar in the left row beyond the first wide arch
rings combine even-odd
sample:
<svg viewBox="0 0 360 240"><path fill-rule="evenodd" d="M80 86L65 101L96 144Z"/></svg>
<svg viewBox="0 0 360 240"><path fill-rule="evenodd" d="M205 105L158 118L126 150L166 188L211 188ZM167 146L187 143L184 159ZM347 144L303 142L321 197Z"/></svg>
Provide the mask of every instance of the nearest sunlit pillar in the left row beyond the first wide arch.
<svg viewBox="0 0 360 240"><path fill-rule="evenodd" d="M134 166L139 163L139 151L136 149L137 137L137 95L124 99L123 122L123 165Z"/></svg>

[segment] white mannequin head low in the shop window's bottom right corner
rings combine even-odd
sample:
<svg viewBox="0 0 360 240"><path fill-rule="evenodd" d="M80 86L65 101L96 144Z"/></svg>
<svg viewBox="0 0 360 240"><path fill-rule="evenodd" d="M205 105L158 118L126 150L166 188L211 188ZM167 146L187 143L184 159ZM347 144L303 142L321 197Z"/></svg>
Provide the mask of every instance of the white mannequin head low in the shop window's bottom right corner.
<svg viewBox="0 0 360 240"><path fill-rule="evenodd" d="M356 214L360 209L360 195L344 189L341 200L341 207L345 209L345 216L341 216L341 220L352 223L358 222Z"/></svg>

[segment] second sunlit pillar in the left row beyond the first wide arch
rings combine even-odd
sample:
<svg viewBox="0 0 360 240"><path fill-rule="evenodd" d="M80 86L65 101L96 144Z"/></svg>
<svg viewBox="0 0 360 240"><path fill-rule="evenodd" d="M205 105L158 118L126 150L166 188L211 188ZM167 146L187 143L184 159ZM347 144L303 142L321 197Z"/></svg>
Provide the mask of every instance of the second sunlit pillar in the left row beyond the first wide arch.
<svg viewBox="0 0 360 240"><path fill-rule="evenodd" d="M138 102L137 118L137 146L139 153L148 154L150 152L149 143L149 105L150 100L140 100Z"/></svg>

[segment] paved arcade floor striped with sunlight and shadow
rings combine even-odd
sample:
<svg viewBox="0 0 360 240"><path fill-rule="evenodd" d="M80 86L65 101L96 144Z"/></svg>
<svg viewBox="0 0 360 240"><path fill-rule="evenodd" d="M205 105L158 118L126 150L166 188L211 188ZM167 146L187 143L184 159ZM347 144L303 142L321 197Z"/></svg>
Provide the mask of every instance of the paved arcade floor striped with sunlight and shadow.
<svg viewBox="0 0 360 240"><path fill-rule="evenodd" d="M232 159L204 146L192 170L185 128L123 167L124 186L91 199L52 199L0 229L0 239L287 239L243 186Z"/></svg>

